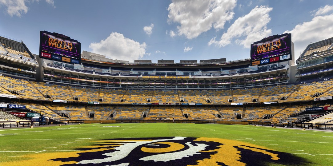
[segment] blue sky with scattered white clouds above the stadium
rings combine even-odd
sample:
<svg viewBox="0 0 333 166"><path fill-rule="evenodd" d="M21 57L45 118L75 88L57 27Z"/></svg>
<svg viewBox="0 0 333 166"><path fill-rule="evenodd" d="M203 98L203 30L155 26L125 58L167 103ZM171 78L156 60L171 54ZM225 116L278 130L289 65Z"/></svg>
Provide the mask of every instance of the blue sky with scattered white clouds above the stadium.
<svg viewBox="0 0 333 166"><path fill-rule="evenodd" d="M0 0L0 34L39 54L39 31L81 42L81 50L127 60L249 58L250 44L291 33L295 59L333 37L331 0Z"/></svg>

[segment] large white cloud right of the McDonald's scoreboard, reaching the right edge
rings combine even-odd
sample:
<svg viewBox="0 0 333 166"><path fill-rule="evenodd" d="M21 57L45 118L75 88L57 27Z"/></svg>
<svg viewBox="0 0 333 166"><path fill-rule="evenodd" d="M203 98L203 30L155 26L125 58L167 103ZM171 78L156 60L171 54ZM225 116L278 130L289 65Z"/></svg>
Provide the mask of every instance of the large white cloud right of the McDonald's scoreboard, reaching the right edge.
<svg viewBox="0 0 333 166"><path fill-rule="evenodd" d="M310 42L315 43L333 37L333 14L316 16L311 21L303 22L290 31L291 40L295 44L295 60L299 52L303 52Z"/></svg>

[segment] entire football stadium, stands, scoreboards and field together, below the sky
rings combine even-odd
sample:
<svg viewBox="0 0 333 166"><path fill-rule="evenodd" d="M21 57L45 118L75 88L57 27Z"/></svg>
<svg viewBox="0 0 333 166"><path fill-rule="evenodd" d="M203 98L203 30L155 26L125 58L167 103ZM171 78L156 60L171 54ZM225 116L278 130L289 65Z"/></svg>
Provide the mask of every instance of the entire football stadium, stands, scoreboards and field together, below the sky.
<svg viewBox="0 0 333 166"><path fill-rule="evenodd" d="M291 34L237 61L113 60L47 31L39 56L0 46L4 165L330 165L333 38L296 65Z"/></svg>

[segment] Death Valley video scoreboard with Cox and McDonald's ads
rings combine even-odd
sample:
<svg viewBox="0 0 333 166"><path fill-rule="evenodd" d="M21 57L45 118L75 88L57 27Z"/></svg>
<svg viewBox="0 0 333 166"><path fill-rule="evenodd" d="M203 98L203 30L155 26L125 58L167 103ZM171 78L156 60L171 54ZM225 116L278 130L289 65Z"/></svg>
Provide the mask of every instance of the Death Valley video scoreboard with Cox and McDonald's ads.
<svg viewBox="0 0 333 166"><path fill-rule="evenodd" d="M274 35L251 44L251 66L291 60L291 34Z"/></svg>

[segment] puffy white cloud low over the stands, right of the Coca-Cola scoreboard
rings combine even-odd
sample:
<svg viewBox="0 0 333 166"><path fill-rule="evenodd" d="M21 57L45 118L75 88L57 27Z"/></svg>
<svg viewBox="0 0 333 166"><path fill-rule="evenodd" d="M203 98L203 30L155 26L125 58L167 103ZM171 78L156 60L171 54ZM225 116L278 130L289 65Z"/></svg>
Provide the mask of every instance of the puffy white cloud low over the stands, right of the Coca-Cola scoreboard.
<svg viewBox="0 0 333 166"><path fill-rule="evenodd" d="M91 43L92 52L106 55L106 58L133 62L146 54L146 43L140 44L123 34L112 32L109 37L98 43Z"/></svg>

